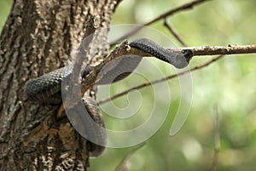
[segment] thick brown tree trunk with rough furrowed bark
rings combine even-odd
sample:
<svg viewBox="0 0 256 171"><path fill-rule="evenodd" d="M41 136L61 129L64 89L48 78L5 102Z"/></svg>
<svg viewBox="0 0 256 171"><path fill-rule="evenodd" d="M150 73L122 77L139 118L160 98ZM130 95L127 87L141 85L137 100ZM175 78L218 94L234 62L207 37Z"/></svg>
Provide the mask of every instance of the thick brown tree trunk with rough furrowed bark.
<svg viewBox="0 0 256 171"><path fill-rule="evenodd" d="M27 80L67 64L94 19L97 57L108 53L114 0L16 0L0 37L0 170L86 170L86 140L59 106L23 97ZM93 25L92 24L92 25Z"/></svg>

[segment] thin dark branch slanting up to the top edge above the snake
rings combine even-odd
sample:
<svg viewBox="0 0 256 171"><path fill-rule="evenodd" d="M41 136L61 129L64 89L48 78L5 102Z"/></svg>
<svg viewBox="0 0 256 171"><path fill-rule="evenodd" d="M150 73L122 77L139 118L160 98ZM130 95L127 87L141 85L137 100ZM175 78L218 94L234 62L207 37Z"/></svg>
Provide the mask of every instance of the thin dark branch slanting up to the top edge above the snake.
<svg viewBox="0 0 256 171"><path fill-rule="evenodd" d="M205 1L209 1L209 0L195 0L195 1L192 1L190 3L185 3L175 9L171 9L169 11L167 11L166 13L164 14L160 14L158 17L156 17L154 20L150 20L148 21L147 23L143 24L142 26L137 26L134 30L126 33L124 36L122 37L119 37L117 40L114 40L112 43L110 44L115 44L115 43L119 43L120 41L123 41L125 38L127 37L131 37L131 35L135 34L137 31L140 31L144 26L148 26L148 25L151 25L153 24L154 22L158 21L158 20L161 20L161 19L165 19L167 16L170 16L172 14L175 14L179 11L182 11L182 10L185 10L185 9L192 9L195 5L198 5L200 3L203 3Z"/></svg>

